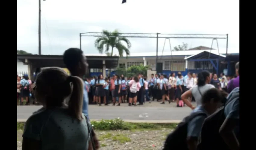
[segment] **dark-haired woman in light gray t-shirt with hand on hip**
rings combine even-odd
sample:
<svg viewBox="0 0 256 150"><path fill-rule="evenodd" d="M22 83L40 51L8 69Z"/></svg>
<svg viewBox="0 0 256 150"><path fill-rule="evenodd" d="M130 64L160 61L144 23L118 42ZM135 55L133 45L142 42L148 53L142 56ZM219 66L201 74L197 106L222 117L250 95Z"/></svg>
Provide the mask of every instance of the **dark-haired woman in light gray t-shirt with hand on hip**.
<svg viewBox="0 0 256 150"><path fill-rule="evenodd" d="M201 99L204 92L211 88L215 88L214 85L209 84L210 81L211 79L209 71L204 70L198 73L197 85L193 86L181 95L181 99L183 100L183 102L191 109L195 109L195 107L188 101L188 98L191 98L193 96L195 98L196 105L201 105Z"/></svg>

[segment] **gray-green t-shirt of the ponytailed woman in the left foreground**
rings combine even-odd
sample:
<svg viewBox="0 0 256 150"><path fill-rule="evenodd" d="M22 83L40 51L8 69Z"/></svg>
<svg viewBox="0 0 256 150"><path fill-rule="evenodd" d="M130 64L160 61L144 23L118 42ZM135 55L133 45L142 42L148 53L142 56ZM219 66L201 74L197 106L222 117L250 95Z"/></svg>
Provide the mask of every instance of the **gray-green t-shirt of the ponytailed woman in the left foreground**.
<svg viewBox="0 0 256 150"><path fill-rule="evenodd" d="M65 108L41 108L27 120L23 138L41 141L42 150L87 150L90 137L82 116L79 122Z"/></svg>

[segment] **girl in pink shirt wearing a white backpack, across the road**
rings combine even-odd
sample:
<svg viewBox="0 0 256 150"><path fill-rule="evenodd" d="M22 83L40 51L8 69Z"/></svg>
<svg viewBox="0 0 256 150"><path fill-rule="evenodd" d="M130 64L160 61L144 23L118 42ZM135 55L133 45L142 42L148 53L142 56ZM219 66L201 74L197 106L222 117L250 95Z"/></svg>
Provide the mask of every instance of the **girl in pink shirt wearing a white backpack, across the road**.
<svg viewBox="0 0 256 150"><path fill-rule="evenodd" d="M129 95L128 106L132 106L132 103L134 103L134 106L136 106L137 94L139 92L139 89L141 88L141 85L139 83L139 78L137 76L134 76L133 79L129 82L129 86L130 86L130 95Z"/></svg>

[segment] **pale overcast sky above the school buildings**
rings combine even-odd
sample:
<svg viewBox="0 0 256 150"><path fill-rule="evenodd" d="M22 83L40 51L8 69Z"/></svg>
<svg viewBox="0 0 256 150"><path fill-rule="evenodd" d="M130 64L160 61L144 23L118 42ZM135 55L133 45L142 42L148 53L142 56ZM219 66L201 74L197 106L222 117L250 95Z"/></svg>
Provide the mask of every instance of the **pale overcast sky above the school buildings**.
<svg viewBox="0 0 256 150"><path fill-rule="evenodd" d="M79 33L103 29L124 33L229 34L230 51L239 52L239 1L233 0L46 0L41 1L42 54L62 55L79 48ZM82 37L86 55L98 54L95 37ZM155 52L155 38L128 38L131 53ZM211 47L212 39L170 39L171 47ZM220 49L226 40L219 39ZM162 51L164 39L159 39ZM216 42L213 48L217 48ZM38 54L38 1L17 0L17 49ZM164 52L170 51L169 44ZM117 53L117 50L114 50Z"/></svg>

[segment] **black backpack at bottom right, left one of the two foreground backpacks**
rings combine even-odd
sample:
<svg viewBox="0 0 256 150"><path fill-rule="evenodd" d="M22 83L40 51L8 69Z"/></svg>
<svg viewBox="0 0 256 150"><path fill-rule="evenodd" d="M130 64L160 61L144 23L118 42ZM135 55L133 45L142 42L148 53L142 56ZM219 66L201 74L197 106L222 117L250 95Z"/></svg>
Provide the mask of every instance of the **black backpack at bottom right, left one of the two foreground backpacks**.
<svg viewBox="0 0 256 150"><path fill-rule="evenodd" d="M189 122L196 116L207 117L207 115L203 112L195 112L185 117L183 121L178 124L177 128L167 136L164 142L163 150L171 150L171 149L188 150L187 141L186 141L187 132L188 132L187 128L188 128Z"/></svg>

